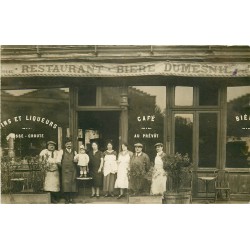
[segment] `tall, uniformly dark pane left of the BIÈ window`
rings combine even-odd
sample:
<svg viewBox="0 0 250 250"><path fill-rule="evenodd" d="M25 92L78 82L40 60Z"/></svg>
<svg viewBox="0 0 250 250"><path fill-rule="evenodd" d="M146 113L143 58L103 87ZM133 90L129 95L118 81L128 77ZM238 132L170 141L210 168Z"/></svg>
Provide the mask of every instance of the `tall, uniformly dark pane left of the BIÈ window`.
<svg viewBox="0 0 250 250"><path fill-rule="evenodd" d="M217 114L199 114L199 167L216 167Z"/></svg>

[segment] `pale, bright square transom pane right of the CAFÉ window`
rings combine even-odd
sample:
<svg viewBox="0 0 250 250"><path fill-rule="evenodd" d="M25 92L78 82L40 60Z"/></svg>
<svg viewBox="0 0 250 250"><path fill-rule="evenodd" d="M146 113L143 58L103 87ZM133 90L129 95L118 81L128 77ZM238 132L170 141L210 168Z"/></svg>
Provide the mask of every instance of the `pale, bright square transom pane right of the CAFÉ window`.
<svg viewBox="0 0 250 250"><path fill-rule="evenodd" d="M193 106L193 87L175 87L175 106Z"/></svg>

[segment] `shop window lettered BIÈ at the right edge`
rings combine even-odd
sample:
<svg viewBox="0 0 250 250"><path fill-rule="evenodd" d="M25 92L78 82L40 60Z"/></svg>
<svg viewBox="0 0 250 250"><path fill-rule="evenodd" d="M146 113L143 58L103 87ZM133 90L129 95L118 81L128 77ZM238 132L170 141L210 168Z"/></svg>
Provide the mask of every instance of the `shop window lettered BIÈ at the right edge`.
<svg viewBox="0 0 250 250"><path fill-rule="evenodd" d="M227 88L226 167L250 167L250 87Z"/></svg>

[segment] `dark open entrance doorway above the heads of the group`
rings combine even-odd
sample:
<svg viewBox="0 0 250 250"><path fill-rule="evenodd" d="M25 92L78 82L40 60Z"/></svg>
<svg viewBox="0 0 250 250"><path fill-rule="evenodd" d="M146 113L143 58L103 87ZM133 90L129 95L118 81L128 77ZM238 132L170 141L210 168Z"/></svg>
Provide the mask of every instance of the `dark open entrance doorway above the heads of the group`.
<svg viewBox="0 0 250 250"><path fill-rule="evenodd" d="M78 143L91 150L91 142L97 141L101 151L106 150L106 144L112 140L113 148L119 147L119 117L118 111L80 111L78 112Z"/></svg>

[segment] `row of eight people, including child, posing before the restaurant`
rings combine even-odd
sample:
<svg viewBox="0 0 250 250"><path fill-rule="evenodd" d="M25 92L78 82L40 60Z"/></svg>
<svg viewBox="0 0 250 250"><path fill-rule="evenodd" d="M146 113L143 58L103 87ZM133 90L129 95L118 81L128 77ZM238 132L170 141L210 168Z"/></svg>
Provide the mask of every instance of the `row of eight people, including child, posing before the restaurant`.
<svg viewBox="0 0 250 250"><path fill-rule="evenodd" d="M148 171L150 159L143 152L141 143L134 144L135 152L128 150L128 144L122 143L119 154L113 149L112 141L107 143L104 152L99 150L97 142L92 142L92 150L87 154L84 146L80 146L79 153L73 150L72 141L68 139L65 149L55 150L56 143L47 142L47 149L40 153L40 161L45 163L44 191L51 192L52 203L58 202L58 193L64 195L65 203L74 203L74 194L77 192L77 177L92 177L91 198L100 197L100 189L104 197L114 197L114 189L119 189L117 199L124 196L125 189L133 189L132 178L128 171L131 168L141 167ZM164 171L163 144L156 143L156 157L154 160L150 193L163 194L166 190L167 174ZM77 167L80 176L77 176ZM134 180L136 181L136 180Z"/></svg>

